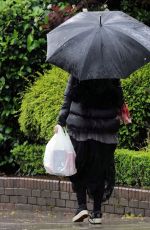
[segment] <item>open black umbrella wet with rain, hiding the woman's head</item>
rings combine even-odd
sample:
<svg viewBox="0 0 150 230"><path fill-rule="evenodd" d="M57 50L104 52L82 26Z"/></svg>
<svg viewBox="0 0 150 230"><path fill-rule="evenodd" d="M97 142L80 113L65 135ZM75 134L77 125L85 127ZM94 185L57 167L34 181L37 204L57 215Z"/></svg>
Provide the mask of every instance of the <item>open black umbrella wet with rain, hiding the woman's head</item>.
<svg viewBox="0 0 150 230"><path fill-rule="evenodd" d="M80 80L125 78L150 61L150 28L120 11L82 12L47 34L47 61Z"/></svg>

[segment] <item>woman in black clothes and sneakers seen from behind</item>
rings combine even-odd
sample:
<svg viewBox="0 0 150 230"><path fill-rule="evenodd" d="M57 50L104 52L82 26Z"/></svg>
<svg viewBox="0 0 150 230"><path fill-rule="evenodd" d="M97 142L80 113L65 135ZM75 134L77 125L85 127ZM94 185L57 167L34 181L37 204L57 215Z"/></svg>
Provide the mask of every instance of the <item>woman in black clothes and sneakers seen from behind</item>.
<svg viewBox="0 0 150 230"><path fill-rule="evenodd" d="M119 80L79 82L70 76L58 124L67 126L76 152L77 173L70 177L78 202L73 222L89 216L90 223L101 223L101 204L109 199L115 185L114 152L123 103ZM90 215L87 194L93 199Z"/></svg>

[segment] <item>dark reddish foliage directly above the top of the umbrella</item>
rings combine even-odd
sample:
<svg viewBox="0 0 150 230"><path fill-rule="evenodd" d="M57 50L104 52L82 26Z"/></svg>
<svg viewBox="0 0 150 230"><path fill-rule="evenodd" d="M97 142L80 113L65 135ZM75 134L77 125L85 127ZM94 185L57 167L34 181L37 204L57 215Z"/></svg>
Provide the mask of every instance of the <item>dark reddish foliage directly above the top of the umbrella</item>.
<svg viewBox="0 0 150 230"><path fill-rule="evenodd" d="M74 14L82 11L83 8L89 11L122 10L147 25L150 22L149 0L51 0L49 3L48 23L43 26L46 30L55 28Z"/></svg>

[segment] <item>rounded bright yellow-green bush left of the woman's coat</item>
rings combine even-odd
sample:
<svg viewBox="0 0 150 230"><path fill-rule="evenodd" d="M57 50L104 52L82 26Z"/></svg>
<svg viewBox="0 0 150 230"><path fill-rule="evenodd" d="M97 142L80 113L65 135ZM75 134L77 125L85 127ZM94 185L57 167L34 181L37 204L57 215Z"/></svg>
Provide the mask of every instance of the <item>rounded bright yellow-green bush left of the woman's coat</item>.
<svg viewBox="0 0 150 230"><path fill-rule="evenodd" d="M53 68L41 76L24 95L19 123L30 141L48 140L63 101L68 74Z"/></svg>

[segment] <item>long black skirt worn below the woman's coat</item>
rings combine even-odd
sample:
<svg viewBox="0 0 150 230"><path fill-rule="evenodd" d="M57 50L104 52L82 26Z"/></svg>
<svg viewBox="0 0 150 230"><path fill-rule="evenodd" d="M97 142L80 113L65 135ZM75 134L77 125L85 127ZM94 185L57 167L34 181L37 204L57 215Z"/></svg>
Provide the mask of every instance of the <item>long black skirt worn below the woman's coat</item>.
<svg viewBox="0 0 150 230"><path fill-rule="evenodd" d="M85 188L90 198L103 193L102 201L111 196L115 185L114 152L116 144L95 140L76 141L71 137L76 152L77 173L70 177L75 192Z"/></svg>

